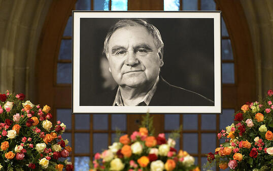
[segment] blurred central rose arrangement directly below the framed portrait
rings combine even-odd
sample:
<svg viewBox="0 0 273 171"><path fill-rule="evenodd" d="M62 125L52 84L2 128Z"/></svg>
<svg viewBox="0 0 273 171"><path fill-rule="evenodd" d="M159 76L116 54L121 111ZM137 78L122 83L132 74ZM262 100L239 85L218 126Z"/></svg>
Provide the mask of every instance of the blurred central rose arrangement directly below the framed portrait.
<svg viewBox="0 0 273 171"><path fill-rule="evenodd" d="M120 136L119 141L109 146L109 149L101 154L96 153L89 171L199 171L192 156L186 151L177 152L174 148L175 138L166 140L164 133L153 135L151 120L152 117L147 114L139 131L134 131L130 136L128 134ZM179 131L174 132L172 137L178 134Z"/></svg>

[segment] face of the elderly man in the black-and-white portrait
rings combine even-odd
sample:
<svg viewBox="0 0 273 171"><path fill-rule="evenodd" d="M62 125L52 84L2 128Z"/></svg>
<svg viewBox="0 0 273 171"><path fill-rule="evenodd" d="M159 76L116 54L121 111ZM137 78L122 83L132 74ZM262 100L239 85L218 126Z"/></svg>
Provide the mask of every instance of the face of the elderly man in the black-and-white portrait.
<svg viewBox="0 0 273 171"><path fill-rule="evenodd" d="M107 58L113 78L120 86L151 86L163 65L153 37L143 26L117 29L110 37Z"/></svg>

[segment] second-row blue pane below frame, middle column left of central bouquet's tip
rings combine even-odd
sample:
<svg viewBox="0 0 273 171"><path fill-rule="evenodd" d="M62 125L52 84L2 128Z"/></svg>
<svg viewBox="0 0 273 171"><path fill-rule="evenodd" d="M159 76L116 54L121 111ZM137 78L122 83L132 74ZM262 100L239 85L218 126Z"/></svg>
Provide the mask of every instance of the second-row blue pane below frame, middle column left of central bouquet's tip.
<svg viewBox="0 0 273 171"><path fill-rule="evenodd" d="M93 134L93 153L101 153L108 149L108 133Z"/></svg>

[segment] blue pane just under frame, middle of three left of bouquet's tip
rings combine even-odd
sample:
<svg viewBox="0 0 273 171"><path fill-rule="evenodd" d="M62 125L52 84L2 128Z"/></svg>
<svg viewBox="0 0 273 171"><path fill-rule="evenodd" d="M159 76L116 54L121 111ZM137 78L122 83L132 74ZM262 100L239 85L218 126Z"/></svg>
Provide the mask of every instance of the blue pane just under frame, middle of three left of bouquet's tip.
<svg viewBox="0 0 273 171"><path fill-rule="evenodd" d="M107 130L108 129L108 115L94 114L93 115L93 129Z"/></svg>

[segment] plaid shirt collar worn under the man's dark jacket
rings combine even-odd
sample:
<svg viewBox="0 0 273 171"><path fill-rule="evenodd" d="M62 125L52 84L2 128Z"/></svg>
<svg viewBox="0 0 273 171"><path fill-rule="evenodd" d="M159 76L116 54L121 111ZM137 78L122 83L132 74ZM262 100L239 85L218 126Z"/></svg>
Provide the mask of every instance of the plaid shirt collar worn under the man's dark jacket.
<svg viewBox="0 0 273 171"><path fill-rule="evenodd" d="M143 100L136 106L149 106L150 101L152 97L154 96L158 81L159 81L159 77L157 77L153 87L150 89L150 91L148 91L148 93L143 98ZM117 90L117 94L116 94L116 98L114 100L113 106L124 106L119 87Z"/></svg>

